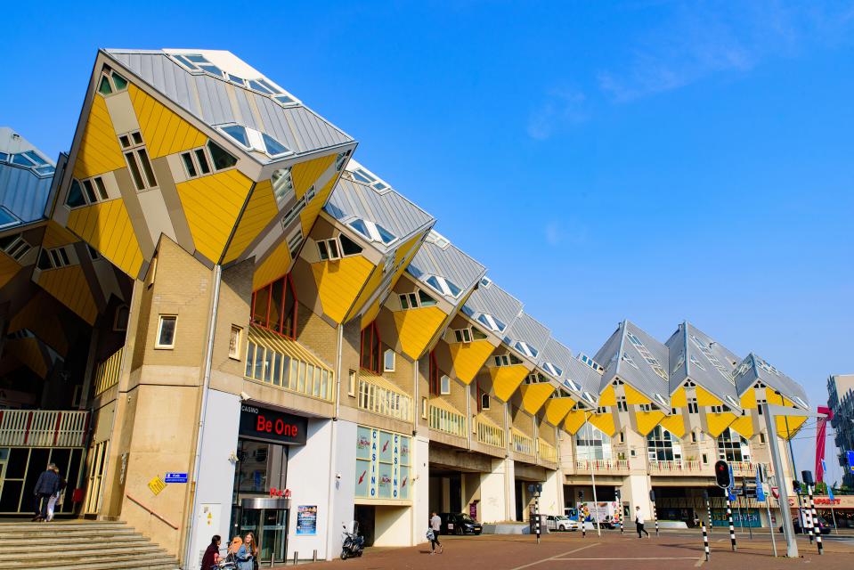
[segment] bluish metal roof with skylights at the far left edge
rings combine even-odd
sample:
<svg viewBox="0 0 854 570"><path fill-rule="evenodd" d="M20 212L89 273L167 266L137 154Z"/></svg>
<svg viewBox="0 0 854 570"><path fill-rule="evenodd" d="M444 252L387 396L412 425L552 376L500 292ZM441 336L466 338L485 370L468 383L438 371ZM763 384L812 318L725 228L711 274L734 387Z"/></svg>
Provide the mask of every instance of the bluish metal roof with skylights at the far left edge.
<svg viewBox="0 0 854 570"><path fill-rule="evenodd" d="M36 156L45 164L37 166L28 159L16 158L25 152L35 153L30 156ZM20 134L7 126L0 126L0 206L18 218L17 222L6 224L0 229L35 222L45 216L53 182L53 167L53 161ZM41 172L37 172L36 168Z"/></svg>

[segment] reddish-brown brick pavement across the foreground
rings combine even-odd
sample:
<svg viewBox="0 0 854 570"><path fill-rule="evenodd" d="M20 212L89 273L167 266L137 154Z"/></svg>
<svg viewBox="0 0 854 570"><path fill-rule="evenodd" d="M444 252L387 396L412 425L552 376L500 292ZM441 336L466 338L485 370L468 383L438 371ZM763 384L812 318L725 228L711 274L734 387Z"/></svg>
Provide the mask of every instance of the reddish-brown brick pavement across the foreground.
<svg viewBox="0 0 854 570"><path fill-rule="evenodd" d="M782 538L782 537L781 537ZM717 542L717 541L721 542ZM631 570L680 570L682 568L734 567L749 570L777 570L777 568L810 567L820 565L822 570L846 570L851 567L854 542L825 542L825 555L817 556L816 547L799 541L801 557L797 559L774 558L768 534L752 541L739 537L738 551L732 552L729 540L715 536L712 541L712 559L704 561L703 542L692 533L662 533L650 539L616 532L548 534L538 546L531 536L479 537L443 536L444 553L430 555L427 544L411 548L369 549L362 558L335 560L311 565L317 570L436 570L465 568L475 570L585 570L590 568L631 568ZM777 542L777 549L785 552L785 545ZM277 566L284 568L285 566Z"/></svg>

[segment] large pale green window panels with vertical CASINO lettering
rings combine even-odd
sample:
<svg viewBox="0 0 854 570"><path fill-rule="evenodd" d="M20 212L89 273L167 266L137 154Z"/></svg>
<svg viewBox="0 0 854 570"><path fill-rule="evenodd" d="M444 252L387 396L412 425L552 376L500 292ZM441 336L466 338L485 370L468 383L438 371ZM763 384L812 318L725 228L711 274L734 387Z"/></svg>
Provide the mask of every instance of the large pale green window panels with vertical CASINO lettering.
<svg viewBox="0 0 854 570"><path fill-rule="evenodd" d="M359 426L356 431L356 497L410 498L410 441L408 436Z"/></svg>

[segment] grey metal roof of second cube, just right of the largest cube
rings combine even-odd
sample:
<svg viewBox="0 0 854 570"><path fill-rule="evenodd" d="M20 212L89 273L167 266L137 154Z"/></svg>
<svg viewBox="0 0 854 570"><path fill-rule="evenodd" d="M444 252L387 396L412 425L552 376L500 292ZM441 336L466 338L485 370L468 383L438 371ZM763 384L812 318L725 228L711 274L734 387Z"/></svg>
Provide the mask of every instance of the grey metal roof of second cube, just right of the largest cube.
<svg viewBox="0 0 854 570"><path fill-rule="evenodd" d="M389 189L380 192L344 176L338 179L324 209L342 224L349 224L354 218L362 218L394 234L396 240L387 246L382 242L374 242L383 251L397 248L415 232L435 222L433 216L397 191Z"/></svg>

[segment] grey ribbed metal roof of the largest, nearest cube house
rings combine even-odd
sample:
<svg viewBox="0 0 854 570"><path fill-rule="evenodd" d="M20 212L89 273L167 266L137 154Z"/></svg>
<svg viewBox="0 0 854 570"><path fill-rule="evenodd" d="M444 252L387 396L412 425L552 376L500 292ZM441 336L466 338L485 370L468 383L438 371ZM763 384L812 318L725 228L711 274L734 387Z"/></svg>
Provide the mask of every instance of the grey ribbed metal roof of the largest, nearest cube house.
<svg viewBox="0 0 854 570"><path fill-rule="evenodd" d="M282 107L269 96L234 85L224 78L193 74L173 61L166 52L105 52L208 126L239 123L271 135L297 154L353 141L301 103ZM230 90L235 94L236 103L229 99ZM253 105L260 117L252 112Z"/></svg>

